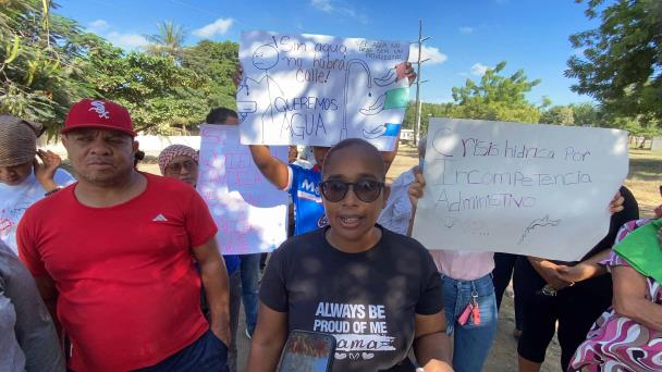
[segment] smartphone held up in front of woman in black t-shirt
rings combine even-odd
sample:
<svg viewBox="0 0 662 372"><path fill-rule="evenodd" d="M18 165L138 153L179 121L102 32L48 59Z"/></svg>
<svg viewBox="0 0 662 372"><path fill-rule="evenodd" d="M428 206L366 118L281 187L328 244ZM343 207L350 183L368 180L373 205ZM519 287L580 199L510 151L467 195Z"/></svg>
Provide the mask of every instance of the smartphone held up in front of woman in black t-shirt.
<svg viewBox="0 0 662 372"><path fill-rule="evenodd" d="M279 372L330 372L335 354L335 337L319 332L294 330L290 333Z"/></svg>

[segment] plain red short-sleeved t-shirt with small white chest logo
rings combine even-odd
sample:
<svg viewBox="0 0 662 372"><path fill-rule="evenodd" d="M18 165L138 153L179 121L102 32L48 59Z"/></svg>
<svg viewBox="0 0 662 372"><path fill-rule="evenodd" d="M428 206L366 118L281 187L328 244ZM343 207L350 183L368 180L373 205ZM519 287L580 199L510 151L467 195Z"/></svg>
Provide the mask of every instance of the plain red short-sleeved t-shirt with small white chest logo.
<svg viewBox="0 0 662 372"><path fill-rule="evenodd" d="M19 224L21 259L56 283L75 371L154 365L209 328L192 248L212 239L216 224L189 185L144 175L146 190L122 204L86 207L74 184Z"/></svg>

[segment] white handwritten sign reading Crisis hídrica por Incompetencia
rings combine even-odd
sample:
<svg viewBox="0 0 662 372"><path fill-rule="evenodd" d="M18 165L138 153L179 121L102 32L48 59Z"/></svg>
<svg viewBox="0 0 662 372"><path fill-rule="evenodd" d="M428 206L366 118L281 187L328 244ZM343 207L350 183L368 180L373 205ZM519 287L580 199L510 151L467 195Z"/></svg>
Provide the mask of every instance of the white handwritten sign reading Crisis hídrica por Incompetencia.
<svg viewBox="0 0 662 372"><path fill-rule="evenodd" d="M580 259L627 175L623 131L433 119L413 236L429 249Z"/></svg>

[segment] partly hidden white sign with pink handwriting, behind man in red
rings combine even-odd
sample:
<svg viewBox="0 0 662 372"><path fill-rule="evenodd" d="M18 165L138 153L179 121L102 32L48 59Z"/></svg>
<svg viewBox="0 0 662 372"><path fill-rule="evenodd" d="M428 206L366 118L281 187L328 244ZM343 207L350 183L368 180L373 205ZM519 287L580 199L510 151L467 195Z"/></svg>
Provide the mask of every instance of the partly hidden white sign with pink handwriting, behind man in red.
<svg viewBox="0 0 662 372"><path fill-rule="evenodd" d="M216 221L223 255L271 251L286 238L287 194L261 175L232 125L201 125L197 188ZM287 148L271 153L286 161Z"/></svg>

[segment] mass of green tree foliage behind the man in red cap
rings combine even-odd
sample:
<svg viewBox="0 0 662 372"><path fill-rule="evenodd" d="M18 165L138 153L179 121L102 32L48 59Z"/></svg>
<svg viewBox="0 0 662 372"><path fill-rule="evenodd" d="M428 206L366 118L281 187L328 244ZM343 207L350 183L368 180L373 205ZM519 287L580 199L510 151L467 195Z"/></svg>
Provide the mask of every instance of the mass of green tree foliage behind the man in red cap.
<svg viewBox="0 0 662 372"><path fill-rule="evenodd" d="M52 13L49 1L0 0L0 113L57 133L85 97L124 104L137 131L172 134L204 122L211 107L234 107L238 46L185 47L182 26L158 25L146 52L125 52Z"/></svg>

